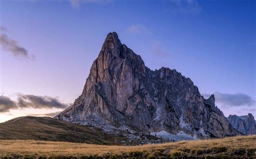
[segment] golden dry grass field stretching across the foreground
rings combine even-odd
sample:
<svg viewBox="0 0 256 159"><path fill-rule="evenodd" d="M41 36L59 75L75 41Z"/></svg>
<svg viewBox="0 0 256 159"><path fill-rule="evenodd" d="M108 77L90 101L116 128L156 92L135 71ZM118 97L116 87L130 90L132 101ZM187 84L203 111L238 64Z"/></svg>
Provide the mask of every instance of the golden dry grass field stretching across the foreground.
<svg viewBox="0 0 256 159"><path fill-rule="evenodd" d="M256 135L143 146L0 140L2 158L256 158Z"/></svg>

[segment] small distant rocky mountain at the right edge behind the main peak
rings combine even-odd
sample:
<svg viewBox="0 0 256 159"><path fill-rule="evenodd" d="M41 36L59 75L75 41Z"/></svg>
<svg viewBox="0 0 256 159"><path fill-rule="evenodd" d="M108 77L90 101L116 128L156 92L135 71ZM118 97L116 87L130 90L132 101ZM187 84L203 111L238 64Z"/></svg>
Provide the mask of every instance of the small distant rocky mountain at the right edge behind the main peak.
<svg viewBox="0 0 256 159"><path fill-rule="evenodd" d="M256 121L251 113L240 117L238 115L229 115L227 119L239 132L245 135L256 134Z"/></svg>

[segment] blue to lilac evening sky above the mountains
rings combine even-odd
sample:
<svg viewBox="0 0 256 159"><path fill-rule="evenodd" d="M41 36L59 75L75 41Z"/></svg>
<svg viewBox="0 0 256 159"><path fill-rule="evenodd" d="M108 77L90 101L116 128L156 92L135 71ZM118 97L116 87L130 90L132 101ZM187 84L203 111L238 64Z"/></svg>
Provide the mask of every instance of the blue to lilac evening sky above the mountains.
<svg viewBox="0 0 256 159"><path fill-rule="evenodd" d="M256 118L256 1L2 0L0 122L53 116L82 93L107 33Z"/></svg>

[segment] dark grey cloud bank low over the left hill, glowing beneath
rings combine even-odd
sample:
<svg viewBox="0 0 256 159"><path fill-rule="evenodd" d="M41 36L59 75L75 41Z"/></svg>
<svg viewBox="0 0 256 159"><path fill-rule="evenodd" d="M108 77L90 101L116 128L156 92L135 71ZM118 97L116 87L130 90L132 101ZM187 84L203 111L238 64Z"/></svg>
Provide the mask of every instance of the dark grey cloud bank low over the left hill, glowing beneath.
<svg viewBox="0 0 256 159"><path fill-rule="evenodd" d="M0 96L0 113L15 109L65 109L69 104L62 103L58 98L19 94L17 102L6 96Z"/></svg>

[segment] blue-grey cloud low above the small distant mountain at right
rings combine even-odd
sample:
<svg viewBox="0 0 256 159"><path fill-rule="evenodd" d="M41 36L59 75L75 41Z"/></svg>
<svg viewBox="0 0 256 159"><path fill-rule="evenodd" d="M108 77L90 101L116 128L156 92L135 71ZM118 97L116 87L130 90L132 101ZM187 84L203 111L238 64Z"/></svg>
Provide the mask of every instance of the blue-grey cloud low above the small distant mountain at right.
<svg viewBox="0 0 256 159"><path fill-rule="evenodd" d="M208 94L203 94L203 96L208 97ZM246 95L245 93L220 93L214 92L216 103L222 104L228 107L235 106L256 106L256 101L252 97Z"/></svg>

